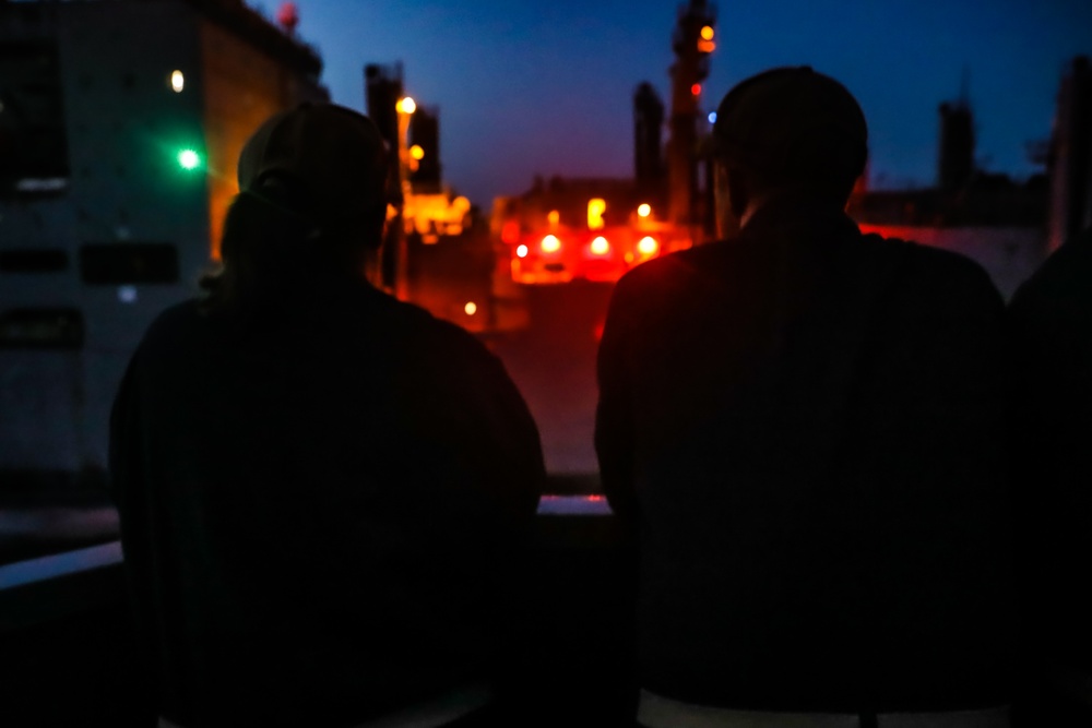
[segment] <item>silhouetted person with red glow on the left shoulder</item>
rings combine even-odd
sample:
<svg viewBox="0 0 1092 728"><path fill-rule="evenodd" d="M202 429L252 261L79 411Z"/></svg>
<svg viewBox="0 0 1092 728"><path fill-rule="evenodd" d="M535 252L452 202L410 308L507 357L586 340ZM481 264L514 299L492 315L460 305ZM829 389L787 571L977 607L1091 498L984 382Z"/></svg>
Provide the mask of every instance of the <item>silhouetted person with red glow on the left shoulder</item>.
<svg viewBox="0 0 1092 728"><path fill-rule="evenodd" d="M834 80L744 81L710 142L738 237L624 276L600 349L639 723L1007 725L997 291L845 216L867 132Z"/></svg>

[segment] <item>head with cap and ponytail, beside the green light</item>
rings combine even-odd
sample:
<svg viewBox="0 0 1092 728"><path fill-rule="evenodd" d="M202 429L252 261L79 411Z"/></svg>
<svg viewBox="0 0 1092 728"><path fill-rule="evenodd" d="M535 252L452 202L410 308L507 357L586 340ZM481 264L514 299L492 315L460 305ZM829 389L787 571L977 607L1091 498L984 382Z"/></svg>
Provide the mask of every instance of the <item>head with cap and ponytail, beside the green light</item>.
<svg viewBox="0 0 1092 728"><path fill-rule="evenodd" d="M269 118L239 155L214 301L283 295L301 271L363 277L383 238L387 174L382 136L356 111L302 104Z"/></svg>

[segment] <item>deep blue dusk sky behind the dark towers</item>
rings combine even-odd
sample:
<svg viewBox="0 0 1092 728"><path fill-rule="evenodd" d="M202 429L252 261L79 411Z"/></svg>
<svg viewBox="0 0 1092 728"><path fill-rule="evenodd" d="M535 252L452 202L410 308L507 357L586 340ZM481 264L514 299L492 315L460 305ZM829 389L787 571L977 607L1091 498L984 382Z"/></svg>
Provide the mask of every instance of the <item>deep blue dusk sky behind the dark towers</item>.
<svg viewBox="0 0 1092 728"><path fill-rule="evenodd" d="M278 0L253 2L273 13ZM633 88L669 98L674 0L297 0L333 99L364 110L365 63L401 60L440 108L447 181L488 207L535 174L632 174ZM1061 69L1092 55L1090 0L747 0L716 3L702 104L763 69L842 81L870 128L871 179L933 181L937 106L964 69L987 169L1026 175L1049 135Z"/></svg>

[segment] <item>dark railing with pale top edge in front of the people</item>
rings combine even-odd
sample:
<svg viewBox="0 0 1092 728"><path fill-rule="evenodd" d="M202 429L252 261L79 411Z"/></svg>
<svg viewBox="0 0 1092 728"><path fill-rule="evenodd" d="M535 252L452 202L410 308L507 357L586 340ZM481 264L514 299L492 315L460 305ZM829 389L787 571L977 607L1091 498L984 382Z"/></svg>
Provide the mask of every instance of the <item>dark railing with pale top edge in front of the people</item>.
<svg viewBox="0 0 1092 728"><path fill-rule="evenodd" d="M598 496L547 496L529 570L527 725L631 726L618 526ZM0 725L151 726L117 541L0 565ZM530 709L530 708L529 708ZM532 716L529 716L529 718Z"/></svg>

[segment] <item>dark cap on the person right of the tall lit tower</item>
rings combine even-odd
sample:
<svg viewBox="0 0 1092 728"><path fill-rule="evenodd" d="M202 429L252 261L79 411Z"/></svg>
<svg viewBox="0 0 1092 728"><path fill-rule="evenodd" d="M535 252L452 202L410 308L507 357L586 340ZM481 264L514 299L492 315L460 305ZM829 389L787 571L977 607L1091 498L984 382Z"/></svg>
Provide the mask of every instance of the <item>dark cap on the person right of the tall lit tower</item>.
<svg viewBox="0 0 1092 728"><path fill-rule="evenodd" d="M724 96L702 151L773 180L853 179L868 156L868 127L834 79L808 65L776 68Z"/></svg>

